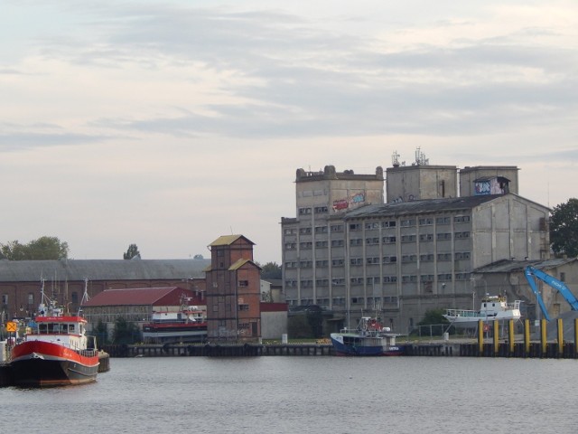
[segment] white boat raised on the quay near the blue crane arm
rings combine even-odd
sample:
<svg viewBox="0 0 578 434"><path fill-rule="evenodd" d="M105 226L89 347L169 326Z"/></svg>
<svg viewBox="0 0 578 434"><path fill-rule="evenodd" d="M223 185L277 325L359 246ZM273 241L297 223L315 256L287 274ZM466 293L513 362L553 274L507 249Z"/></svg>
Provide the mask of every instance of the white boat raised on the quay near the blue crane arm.
<svg viewBox="0 0 578 434"><path fill-rule="evenodd" d="M443 316L452 325L462 328L475 327L480 320L504 322L513 319L516 321L522 317L520 303L521 300L508 303L506 297L489 296L482 298L480 310L447 309Z"/></svg>

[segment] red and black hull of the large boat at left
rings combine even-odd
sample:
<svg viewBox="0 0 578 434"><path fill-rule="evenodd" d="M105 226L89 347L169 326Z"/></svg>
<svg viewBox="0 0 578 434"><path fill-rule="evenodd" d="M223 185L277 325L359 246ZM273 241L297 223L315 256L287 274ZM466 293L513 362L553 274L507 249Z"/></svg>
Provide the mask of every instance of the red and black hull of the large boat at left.
<svg viewBox="0 0 578 434"><path fill-rule="evenodd" d="M61 344L30 341L12 350L14 384L50 387L95 382L98 373L96 350L76 352Z"/></svg>

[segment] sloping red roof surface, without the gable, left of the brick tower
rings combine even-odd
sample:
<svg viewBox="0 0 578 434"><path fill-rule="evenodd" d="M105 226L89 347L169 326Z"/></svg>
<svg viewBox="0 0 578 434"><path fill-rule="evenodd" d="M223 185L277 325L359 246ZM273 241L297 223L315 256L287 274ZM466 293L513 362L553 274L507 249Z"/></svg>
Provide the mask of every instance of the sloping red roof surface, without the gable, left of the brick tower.
<svg viewBox="0 0 578 434"><path fill-rule="evenodd" d="M192 291L179 287L106 289L90 298L82 306L153 306L174 290L192 294Z"/></svg>

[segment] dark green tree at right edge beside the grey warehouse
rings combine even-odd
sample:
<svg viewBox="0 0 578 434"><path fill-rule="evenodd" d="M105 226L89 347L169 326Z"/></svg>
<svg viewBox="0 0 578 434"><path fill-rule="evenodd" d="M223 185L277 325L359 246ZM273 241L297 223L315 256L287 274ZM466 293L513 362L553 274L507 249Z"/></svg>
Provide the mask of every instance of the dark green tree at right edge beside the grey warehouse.
<svg viewBox="0 0 578 434"><path fill-rule="evenodd" d="M568 199L552 210L550 242L556 254L578 256L578 199Z"/></svg>

